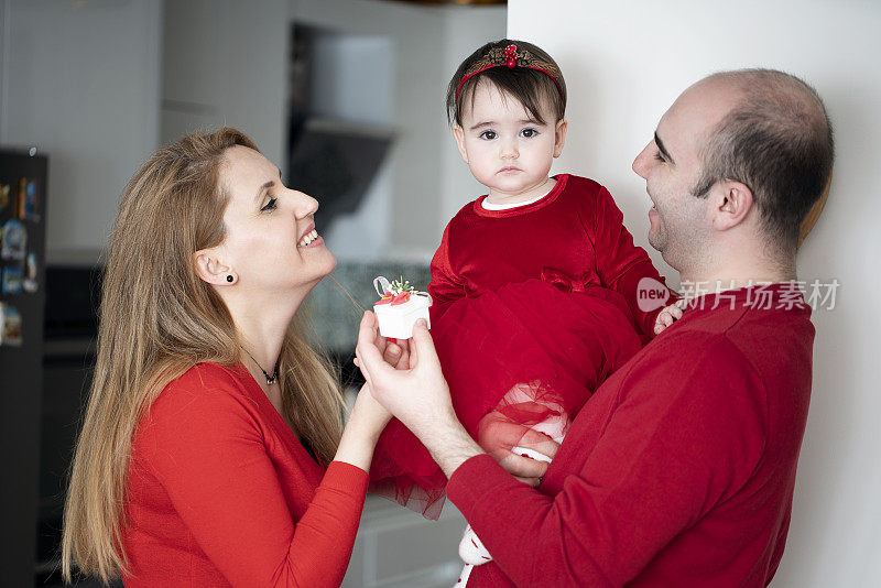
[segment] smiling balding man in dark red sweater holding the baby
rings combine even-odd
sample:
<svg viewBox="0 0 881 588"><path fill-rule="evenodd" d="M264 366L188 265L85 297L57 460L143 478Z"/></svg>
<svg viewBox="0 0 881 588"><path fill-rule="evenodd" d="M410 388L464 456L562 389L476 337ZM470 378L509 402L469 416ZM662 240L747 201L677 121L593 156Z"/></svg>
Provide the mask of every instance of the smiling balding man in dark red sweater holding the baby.
<svg viewBox="0 0 881 588"><path fill-rule="evenodd" d="M424 326L395 371L366 315L358 360L373 394L432 453L492 554L469 587L771 580L811 395L796 244L833 153L822 100L787 74L716 74L679 96L633 171L652 202L649 242L699 287L596 391L546 471L514 455L505 471L468 437Z"/></svg>

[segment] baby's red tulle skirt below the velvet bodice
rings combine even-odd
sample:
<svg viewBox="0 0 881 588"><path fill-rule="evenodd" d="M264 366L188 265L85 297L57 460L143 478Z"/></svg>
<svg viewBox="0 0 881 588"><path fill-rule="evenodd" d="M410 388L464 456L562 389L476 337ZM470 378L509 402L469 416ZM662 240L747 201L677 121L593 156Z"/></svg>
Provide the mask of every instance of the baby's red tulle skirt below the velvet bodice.
<svg viewBox="0 0 881 588"><path fill-rule="evenodd" d="M433 317L432 337L459 421L497 459L562 438L594 390L641 347L620 294L568 280L459 300ZM446 477L400 421L382 433L370 476L374 493L440 514Z"/></svg>

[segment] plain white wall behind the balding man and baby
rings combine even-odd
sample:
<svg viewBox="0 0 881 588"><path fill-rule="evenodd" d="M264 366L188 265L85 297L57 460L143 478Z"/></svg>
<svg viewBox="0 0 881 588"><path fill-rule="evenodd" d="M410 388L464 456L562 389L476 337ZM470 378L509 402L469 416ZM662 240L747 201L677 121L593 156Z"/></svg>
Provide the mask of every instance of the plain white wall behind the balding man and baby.
<svg viewBox="0 0 881 588"><path fill-rule="evenodd" d="M856 0L509 0L509 35L546 48L568 84L556 167L605 183L646 248L649 200L630 164L686 86L766 66L800 75L826 101L837 161L798 269L802 280L841 285L835 308L813 317L814 390L777 587L881 585L880 25L881 4Z"/></svg>

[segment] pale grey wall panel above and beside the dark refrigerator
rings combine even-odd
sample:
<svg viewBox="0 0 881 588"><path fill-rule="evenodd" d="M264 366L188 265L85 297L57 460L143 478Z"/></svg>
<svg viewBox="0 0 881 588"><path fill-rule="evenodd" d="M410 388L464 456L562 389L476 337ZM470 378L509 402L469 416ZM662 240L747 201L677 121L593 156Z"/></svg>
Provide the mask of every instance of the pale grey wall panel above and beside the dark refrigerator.
<svg viewBox="0 0 881 588"><path fill-rule="evenodd" d="M6 0L0 143L48 155L47 258L95 258L156 146L162 6Z"/></svg>

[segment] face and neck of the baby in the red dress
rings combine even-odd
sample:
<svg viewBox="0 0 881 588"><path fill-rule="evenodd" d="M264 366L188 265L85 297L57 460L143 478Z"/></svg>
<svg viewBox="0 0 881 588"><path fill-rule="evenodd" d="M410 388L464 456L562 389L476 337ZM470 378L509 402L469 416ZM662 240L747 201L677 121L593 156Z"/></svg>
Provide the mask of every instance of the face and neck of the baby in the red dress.
<svg viewBox="0 0 881 588"><path fill-rule="evenodd" d="M482 81L474 101L463 104L463 123L453 128L463 159L494 203L527 200L547 192L547 174L563 151L566 121L554 121L551 105L533 119L516 98Z"/></svg>

